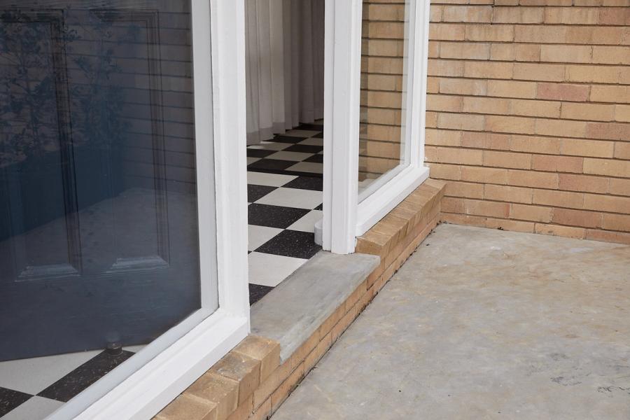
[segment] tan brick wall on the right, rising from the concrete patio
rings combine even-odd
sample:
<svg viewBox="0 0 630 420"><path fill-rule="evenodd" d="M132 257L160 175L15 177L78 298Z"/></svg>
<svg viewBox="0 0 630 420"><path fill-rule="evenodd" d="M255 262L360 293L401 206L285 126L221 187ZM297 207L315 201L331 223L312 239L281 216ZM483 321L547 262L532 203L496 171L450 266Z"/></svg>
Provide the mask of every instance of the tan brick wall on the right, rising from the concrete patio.
<svg viewBox="0 0 630 420"><path fill-rule="evenodd" d="M443 220L630 243L630 0L434 0L430 20Z"/></svg>

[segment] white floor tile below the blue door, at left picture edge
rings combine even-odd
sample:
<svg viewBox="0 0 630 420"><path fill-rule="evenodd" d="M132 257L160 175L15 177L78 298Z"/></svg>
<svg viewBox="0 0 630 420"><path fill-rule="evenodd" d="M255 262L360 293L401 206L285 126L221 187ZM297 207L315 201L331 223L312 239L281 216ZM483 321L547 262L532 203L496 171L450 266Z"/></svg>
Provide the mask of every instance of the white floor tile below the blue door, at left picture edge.
<svg viewBox="0 0 630 420"><path fill-rule="evenodd" d="M0 362L0 386L35 395L101 350Z"/></svg>

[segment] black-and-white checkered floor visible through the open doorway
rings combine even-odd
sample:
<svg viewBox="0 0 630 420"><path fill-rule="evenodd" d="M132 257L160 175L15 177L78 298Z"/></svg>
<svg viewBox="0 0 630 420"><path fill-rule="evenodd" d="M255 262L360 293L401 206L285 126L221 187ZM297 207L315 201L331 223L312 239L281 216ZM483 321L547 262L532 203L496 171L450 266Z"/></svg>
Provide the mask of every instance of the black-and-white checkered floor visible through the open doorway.
<svg viewBox="0 0 630 420"><path fill-rule="evenodd" d="M247 148L249 300L260 300L321 247L323 126L300 125Z"/></svg>

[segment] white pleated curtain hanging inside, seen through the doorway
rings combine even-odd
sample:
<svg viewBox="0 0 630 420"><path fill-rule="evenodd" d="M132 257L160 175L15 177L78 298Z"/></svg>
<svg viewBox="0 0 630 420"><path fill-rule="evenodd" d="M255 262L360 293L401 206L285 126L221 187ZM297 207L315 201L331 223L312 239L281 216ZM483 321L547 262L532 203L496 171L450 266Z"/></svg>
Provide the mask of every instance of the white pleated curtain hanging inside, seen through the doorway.
<svg viewBox="0 0 630 420"><path fill-rule="evenodd" d="M323 118L325 0L245 0L247 144Z"/></svg>

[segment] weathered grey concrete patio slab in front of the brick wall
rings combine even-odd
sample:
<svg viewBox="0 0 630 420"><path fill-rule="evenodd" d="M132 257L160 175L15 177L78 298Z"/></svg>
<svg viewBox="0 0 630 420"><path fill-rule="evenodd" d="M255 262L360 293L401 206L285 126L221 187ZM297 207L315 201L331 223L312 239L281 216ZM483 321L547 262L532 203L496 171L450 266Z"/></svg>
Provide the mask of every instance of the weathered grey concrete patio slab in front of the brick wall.
<svg viewBox="0 0 630 420"><path fill-rule="evenodd" d="M272 419L630 419L629 310L629 246L440 225Z"/></svg>

